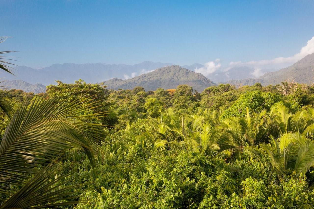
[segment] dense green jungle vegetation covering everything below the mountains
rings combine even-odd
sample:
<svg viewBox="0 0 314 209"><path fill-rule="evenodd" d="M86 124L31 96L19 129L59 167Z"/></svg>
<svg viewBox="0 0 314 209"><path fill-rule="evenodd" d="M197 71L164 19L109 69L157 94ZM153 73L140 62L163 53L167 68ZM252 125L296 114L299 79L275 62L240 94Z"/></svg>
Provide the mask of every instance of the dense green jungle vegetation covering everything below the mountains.
<svg viewBox="0 0 314 209"><path fill-rule="evenodd" d="M288 81L1 90L0 209L313 208L313 102Z"/></svg>

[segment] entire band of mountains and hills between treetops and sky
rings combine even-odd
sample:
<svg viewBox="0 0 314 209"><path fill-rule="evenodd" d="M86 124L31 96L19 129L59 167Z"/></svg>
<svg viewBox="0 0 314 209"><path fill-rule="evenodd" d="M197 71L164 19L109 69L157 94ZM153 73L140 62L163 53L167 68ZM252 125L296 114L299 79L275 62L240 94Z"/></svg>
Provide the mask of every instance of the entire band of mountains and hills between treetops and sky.
<svg viewBox="0 0 314 209"><path fill-rule="evenodd" d="M280 70L254 69L246 66L233 67L228 71L216 70L207 76L208 81L203 75L201 77L201 74L195 73L195 69L204 67L202 64L175 66L170 67L171 70L163 68L166 66L173 66L173 64L145 61L135 65L64 63L53 64L41 69L18 66L14 69L15 76L6 73L2 77L7 80L7 88L22 89L34 93L43 92L46 85L55 84L56 80L64 83L73 83L78 79L83 79L86 83L105 81L108 88L132 88L133 86L145 88L146 86L145 89L147 90L159 87L175 88L175 85L191 83L191 86L199 91L213 83L230 83L236 86L262 83L265 86L278 84L288 78L299 83L312 83L314 78L314 54L307 55L294 65ZM160 68L163 68L163 71ZM155 72L155 69L158 71ZM174 72L175 70L180 72ZM188 78L184 77L183 72L188 75ZM176 78L176 76L179 77ZM191 80L189 80L190 78ZM196 78L200 81L198 82Z"/></svg>

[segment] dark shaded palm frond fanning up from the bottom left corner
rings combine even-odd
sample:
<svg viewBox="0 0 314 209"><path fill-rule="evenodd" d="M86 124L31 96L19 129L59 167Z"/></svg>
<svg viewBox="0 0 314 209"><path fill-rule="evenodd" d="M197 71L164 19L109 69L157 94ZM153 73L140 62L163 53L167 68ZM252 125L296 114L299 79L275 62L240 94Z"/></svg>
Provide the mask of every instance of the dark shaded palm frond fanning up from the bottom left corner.
<svg viewBox="0 0 314 209"><path fill-rule="evenodd" d="M74 190L81 185L62 186L72 180L64 179L68 178L73 172L62 173L62 169L57 168L55 162L49 163L17 190L14 195L3 202L0 209L47 208L79 203L79 201L75 201L79 196ZM59 188L60 186L62 189Z"/></svg>

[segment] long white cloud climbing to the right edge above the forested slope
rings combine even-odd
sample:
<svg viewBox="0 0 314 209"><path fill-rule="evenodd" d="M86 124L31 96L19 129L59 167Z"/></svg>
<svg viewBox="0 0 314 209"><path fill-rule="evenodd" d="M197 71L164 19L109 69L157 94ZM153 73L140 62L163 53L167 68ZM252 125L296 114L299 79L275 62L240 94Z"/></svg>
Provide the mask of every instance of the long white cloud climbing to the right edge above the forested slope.
<svg viewBox="0 0 314 209"><path fill-rule="evenodd" d="M250 62L230 62L230 67L235 66L248 66L254 68L282 68L288 67L295 62L299 61L306 55L314 53L314 36L311 40L307 41L306 46L302 47L300 52L290 57L277 57L271 60L260 60L260 61L250 61Z"/></svg>

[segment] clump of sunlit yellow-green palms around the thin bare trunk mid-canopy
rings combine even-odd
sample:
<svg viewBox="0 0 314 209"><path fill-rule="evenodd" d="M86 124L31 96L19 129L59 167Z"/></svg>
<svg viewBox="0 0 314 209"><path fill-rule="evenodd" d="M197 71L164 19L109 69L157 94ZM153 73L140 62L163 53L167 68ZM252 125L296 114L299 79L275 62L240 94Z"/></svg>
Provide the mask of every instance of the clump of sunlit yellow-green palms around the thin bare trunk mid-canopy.
<svg viewBox="0 0 314 209"><path fill-rule="evenodd" d="M180 115L169 109L158 119L151 118L151 124L158 136L154 148L168 144L171 148L212 156L219 150L219 131L205 121L202 114L189 115L189 112L185 112Z"/></svg>

